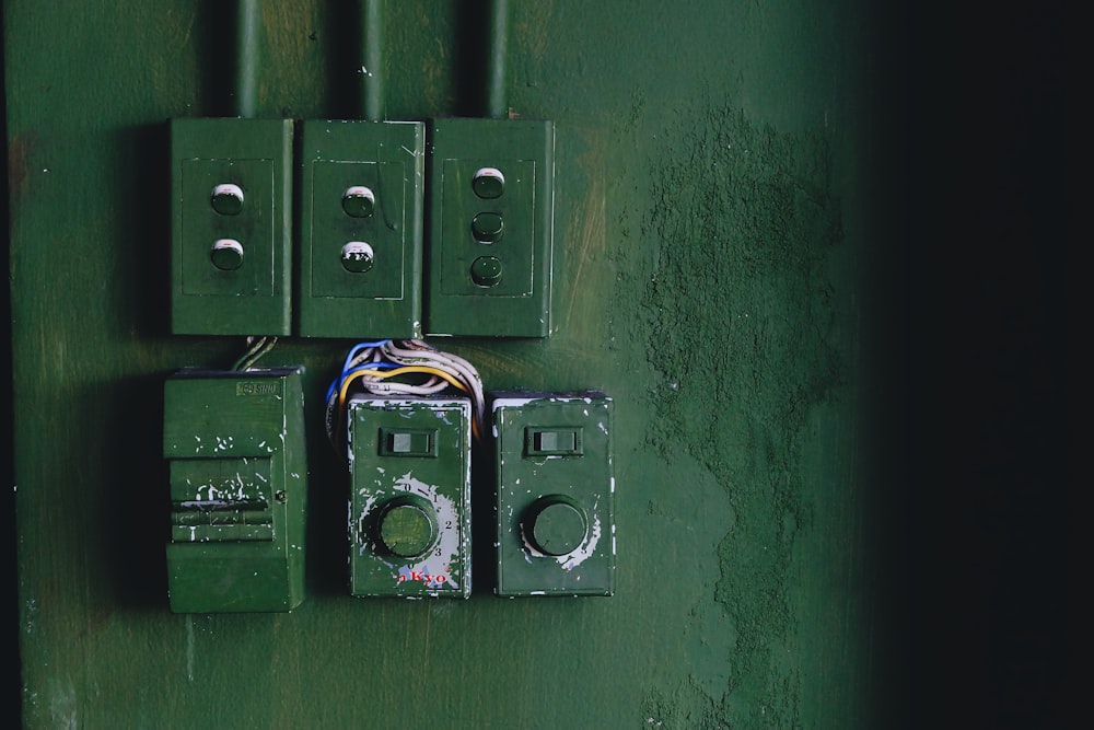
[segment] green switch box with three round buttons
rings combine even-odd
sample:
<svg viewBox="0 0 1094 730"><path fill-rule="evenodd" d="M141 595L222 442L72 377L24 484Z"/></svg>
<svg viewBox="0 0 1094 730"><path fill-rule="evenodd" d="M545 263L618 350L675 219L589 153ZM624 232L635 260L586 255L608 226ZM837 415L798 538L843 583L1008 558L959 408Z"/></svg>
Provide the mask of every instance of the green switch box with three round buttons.
<svg viewBox="0 0 1094 730"><path fill-rule="evenodd" d="M546 337L554 125L437 119L430 146L427 332Z"/></svg>

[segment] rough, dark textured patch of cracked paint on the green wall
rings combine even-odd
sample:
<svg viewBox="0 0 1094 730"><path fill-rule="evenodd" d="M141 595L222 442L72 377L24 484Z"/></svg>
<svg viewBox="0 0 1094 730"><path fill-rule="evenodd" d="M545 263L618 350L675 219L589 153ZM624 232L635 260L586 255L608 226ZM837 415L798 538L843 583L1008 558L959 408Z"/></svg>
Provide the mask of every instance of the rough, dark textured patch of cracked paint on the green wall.
<svg viewBox="0 0 1094 730"><path fill-rule="evenodd" d="M795 634L789 568L812 523L801 453L811 410L848 379L826 274L842 240L830 152L821 135L759 127L728 105L676 115L657 135L637 232L661 379L650 397L662 427L647 438L665 459L686 449L737 515L718 548L714 598L735 636L720 720L796 727L802 680L775 653Z"/></svg>

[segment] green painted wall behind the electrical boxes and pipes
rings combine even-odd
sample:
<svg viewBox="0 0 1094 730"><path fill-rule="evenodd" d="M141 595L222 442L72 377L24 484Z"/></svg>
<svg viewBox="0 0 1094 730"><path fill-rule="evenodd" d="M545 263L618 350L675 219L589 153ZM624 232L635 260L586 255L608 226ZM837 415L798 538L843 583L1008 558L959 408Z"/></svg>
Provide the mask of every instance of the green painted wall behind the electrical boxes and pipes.
<svg viewBox="0 0 1094 730"><path fill-rule="evenodd" d="M441 345L489 389L615 398L614 598L349 598L319 401L351 340L288 338L309 598L174 615L163 380L244 344L167 333L163 123L230 111L226 4L4 3L25 727L876 727L866 3L511 3L509 106L557 130L558 332ZM341 8L266 3L259 115L354 114ZM387 117L475 114L476 11L385 19Z"/></svg>

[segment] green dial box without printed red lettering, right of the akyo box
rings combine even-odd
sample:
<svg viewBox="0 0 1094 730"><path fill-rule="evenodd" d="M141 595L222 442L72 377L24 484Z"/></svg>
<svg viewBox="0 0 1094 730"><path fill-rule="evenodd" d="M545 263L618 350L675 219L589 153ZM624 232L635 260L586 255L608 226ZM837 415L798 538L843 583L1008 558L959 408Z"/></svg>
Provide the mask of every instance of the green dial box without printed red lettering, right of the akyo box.
<svg viewBox="0 0 1094 730"><path fill-rule="evenodd" d="M499 393L492 403L496 593L612 595L612 399Z"/></svg>

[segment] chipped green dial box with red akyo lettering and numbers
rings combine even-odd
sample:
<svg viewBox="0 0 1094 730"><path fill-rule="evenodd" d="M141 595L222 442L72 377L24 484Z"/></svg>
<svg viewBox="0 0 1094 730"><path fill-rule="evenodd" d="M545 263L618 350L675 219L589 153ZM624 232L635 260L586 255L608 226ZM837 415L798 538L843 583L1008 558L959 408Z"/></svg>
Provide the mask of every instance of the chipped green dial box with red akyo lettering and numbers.
<svg viewBox="0 0 1094 730"><path fill-rule="evenodd" d="M350 399L351 594L470 595L470 414L466 398Z"/></svg>

